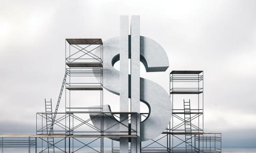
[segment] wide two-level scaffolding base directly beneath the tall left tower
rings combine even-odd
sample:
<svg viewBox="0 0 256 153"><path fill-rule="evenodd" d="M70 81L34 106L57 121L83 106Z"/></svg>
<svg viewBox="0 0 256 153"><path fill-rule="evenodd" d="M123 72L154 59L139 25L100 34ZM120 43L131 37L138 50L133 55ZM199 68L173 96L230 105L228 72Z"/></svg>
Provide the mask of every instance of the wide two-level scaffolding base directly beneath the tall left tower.
<svg viewBox="0 0 256 153"><path fill-rule="evenodd" d="M54 134L48 135L47 124L44 121L47 113L37 113L36 152L47 152L49 147L54 146L55 152L83 152L104 151L104 138L120 138L137 137L137 129L126 131L117 131L120 124L125 123L120 120L120 114L128 114L129 116L137 116L135 112L63 112L57 113L54 124ZM105 120L105 119L108 120ZM106 121L113 123L106 126ZM94 121L98 125L94 124ZM46 145L48 138L54 138L54 143L50 146ZM78 144L77 144L78 143ZM82 146L79 146L82 145ZM95 147L97 145L99 147ZM79 147L78 147L79 146ZM87 148L87 149L86 149Z"/></svg>

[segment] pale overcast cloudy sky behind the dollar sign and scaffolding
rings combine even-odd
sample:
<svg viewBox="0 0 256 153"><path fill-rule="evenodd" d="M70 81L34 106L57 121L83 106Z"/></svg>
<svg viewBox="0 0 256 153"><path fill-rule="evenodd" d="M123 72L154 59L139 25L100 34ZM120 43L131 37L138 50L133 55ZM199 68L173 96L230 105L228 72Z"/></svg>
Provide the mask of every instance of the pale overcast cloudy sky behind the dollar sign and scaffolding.
<svg viewBox="0 0 256 153"><path fill-rule="evenodd" d="M168 55L166 72L142 77L168 91L170 71L204 70L205 131L256 146L256 1L2 0L0 133L34 134L44 98L58 98L65 39L117 36L119 15L140 15L141 35Z"/></svg>

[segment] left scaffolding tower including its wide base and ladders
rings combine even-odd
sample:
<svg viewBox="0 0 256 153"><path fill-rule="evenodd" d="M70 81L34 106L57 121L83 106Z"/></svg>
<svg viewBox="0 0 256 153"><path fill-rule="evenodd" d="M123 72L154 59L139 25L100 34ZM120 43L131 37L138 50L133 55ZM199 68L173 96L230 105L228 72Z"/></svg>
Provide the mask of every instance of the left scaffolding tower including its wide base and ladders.
<svg viewBox="0 0 256 153"><path fill-rule="evenodd" d="M121 120L120 114L137 119L137 113L104 112L102 45L101 39L66 39L66 73L55 112L37 113L37 133L31 136L36 152L51 152L51 148L53 152L103 152L104 138L137 137L137 129L119 129L126 120ZM64 89L66 111L58 112Z"/></svg>

